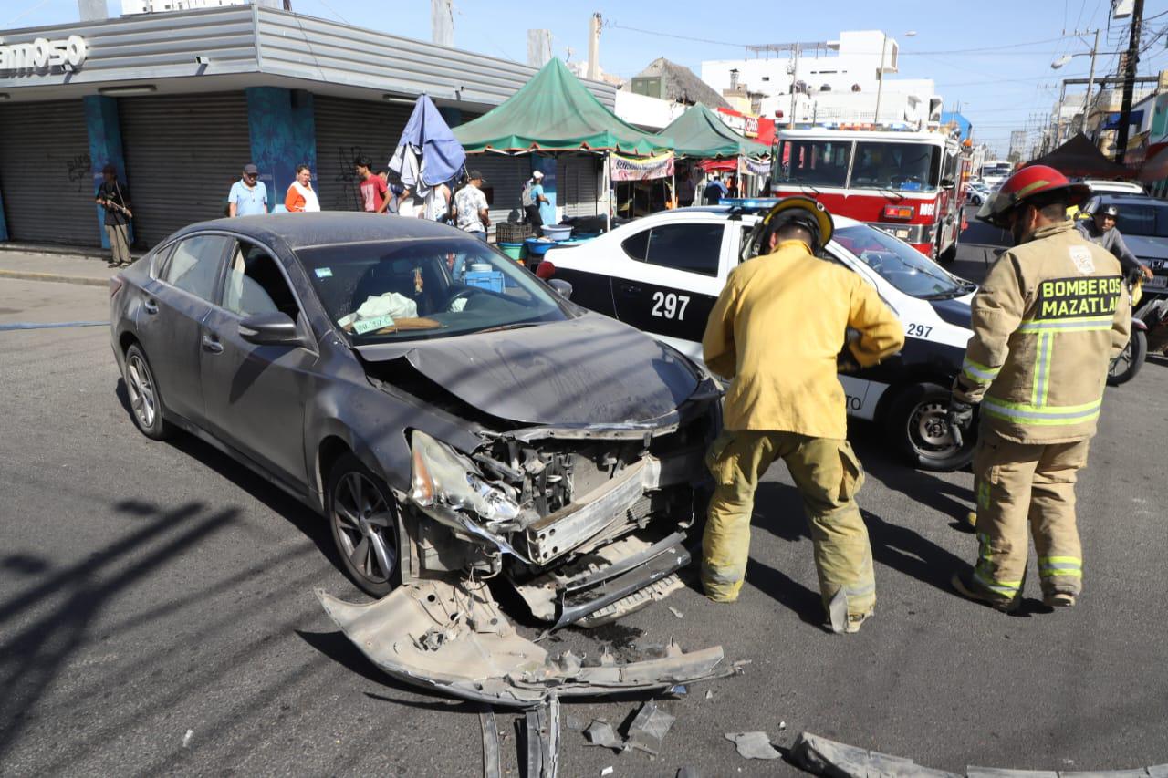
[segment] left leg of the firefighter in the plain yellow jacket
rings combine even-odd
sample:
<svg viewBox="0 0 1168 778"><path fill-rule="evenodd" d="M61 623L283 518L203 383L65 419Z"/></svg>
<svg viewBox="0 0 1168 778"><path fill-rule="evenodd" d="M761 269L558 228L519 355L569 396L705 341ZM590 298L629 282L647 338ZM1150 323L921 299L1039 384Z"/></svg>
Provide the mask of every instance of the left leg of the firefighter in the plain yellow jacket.
<svg viewBox="0 0 1168 778"><path fill-rule="evenodd" d="M750 519L758 479L774 459L766 432L723 432L705 461L714 475L702 535L702 589L716 603L738 599L750 556Z"/></svg>

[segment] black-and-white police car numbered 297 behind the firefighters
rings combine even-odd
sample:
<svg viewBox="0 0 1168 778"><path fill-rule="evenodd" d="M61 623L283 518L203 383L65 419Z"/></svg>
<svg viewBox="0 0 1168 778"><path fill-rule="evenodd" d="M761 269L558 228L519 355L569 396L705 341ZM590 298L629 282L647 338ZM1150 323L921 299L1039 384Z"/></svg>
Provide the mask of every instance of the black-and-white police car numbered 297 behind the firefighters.
<svg viewBox="0 0 1168 778"><path fill-rule="evenodd" d="M541 277L571 284L571 299L702 359L702 333L726 276L757 253L755 225L776 200L730 200L639 218L586 243L551 249ZM945 421L961 370L976 286L887 232L842 216L822 256L858 273L904 324L904 349L840 375L848 414L884 424L924 470L957 470L973 436L955 445ZM798 336L798 333L776 333Z"/></svg>

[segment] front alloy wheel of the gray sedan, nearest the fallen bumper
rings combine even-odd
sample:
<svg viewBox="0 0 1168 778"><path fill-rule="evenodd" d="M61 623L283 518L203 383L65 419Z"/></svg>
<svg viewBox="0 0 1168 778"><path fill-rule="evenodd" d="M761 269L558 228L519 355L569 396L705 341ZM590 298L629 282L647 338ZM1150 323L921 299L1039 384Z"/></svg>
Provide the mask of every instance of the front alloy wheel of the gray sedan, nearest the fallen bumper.
<svg viewBox="0 0 1168 778"><path fill-rule="evenodd" d="M382 597L397 583L397 513L389 491L355 457L329 479L328 515L336 550L361 589Z"/></svg>

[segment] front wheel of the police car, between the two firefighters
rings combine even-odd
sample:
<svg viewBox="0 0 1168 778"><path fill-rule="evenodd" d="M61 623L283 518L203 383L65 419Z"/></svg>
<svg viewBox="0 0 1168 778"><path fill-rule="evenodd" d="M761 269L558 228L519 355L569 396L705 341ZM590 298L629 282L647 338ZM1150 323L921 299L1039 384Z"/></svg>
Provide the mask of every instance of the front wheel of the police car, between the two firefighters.
<svg viewBox="0 0 1168 778"><path fill-rule="evenodd" d="M896 446L916 467L931 471L960 470L973 459L973 430L958 446L950 432L950 391L936 383L904 388L892 401L885 417Z"/></svg>

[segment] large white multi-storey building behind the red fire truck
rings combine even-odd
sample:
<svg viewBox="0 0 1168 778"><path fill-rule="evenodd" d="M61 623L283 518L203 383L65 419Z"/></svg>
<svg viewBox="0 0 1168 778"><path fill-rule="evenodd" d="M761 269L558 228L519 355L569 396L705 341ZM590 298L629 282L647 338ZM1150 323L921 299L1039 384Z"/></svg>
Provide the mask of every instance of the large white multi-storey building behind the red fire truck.
<svg viewBox="0 0 1168 778"><path fill-rule="evenodd" d="M880 30L844 32L837 41L800 44L798 65L784 48L790 47L753 47L753 58L703 62L702 81L719 92L759 95L757 112L781 112L783 123L791 120L792 88L797 124L874 121L877 93L882 123L924 126L940 119L941 98L932 79L889 77L897 72L899 44Z"/></svg>

